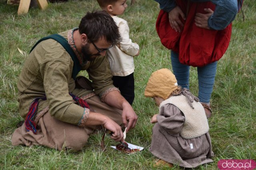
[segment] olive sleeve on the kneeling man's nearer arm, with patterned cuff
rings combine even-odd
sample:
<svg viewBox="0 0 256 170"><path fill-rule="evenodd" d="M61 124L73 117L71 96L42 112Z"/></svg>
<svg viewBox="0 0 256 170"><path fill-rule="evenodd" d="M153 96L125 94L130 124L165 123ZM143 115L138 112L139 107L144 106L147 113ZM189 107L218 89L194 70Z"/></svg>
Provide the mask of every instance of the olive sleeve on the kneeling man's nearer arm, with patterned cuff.
<svg viewBox="0 0 256 170"><path fill-rule="evenodd" d="M49 59L40 64L40 72L50 114L60 121L78 126L83 124L90 110L75 104L68 93L70 63L63 59Z"/></svg>

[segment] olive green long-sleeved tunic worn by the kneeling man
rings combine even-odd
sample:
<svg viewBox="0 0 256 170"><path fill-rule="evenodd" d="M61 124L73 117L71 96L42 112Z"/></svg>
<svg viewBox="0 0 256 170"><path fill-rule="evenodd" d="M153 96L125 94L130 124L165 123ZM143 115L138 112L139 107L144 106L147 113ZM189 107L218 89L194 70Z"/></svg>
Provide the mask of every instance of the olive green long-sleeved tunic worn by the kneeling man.
<svg viewBox="0 0 256 170"><path fill-rule="evenodd" d="M60 35L68 39L68 32L70 35L72 31ZM72 43L72 37L69 37L69 43ZM56 119L79 125L83 115L89 111L75 104L68 92L79 97L88 94L93 96L95 92L104 101L104 96L114 86L105 57L99 56L82 65L82 70L88 72L94 91L75 88L72 68L73 61L62 45L53 39L40 42L28 55L19 76L17 86L20 115L25 118L31 102L46 94L47 100L39 100L38 112L49 106L50 115Z"/></svg>

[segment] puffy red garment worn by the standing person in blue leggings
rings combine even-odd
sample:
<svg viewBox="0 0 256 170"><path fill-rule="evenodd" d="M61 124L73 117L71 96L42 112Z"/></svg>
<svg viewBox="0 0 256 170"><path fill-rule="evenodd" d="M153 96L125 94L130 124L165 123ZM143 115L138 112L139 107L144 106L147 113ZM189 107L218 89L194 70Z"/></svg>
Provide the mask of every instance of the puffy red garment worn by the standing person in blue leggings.
<svg viewBox="0 0 256 170"><path fill-rule="evenodd" d="M182 31L176 32L169 23L168 13L160 10L156 21L156 31L161 43L168 49L179 53L180 63L202 67L218 61L228 49L232 23L223 30L203 29L195 25L196 13L206 14L204 8L215 10L212 2L189 2L176 0L184 14L188 14ZM189 8L188 8L189 7ZM188 8L188 13L186 12Z"/></svg>

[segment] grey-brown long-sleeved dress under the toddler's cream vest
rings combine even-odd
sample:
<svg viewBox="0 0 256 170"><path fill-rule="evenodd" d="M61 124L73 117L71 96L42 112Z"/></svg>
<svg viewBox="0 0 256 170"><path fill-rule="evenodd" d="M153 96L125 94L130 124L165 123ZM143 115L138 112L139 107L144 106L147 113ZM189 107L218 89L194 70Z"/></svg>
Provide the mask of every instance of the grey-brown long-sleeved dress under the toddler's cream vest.
<svg viewBox="0 0 256 170"><path fill-rule="evenodd" d="M150 147L152 154L186 168L212 162L210 157L214 154L208 132L192 139L180 136L185 117L178 107L172 104L162 106L157 121Z"/></svg>

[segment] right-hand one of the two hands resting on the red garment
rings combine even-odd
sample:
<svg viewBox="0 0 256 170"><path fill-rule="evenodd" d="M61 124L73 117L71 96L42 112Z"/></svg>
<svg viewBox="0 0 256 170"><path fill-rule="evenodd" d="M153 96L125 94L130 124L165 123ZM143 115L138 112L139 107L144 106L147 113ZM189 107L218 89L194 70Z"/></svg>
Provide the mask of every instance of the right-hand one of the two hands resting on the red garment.
<svg viewBox="0 0 256 170"><path fill-rule="evenodd" d="M204 11L208 12L208 14L196 13L195 24L200 28L210 29L208 27L208 19L210 18L210 16L212 16L213 10L211 10L210 8L205 8Z"/></svg>

